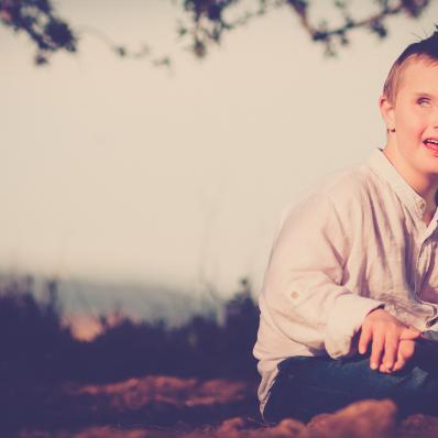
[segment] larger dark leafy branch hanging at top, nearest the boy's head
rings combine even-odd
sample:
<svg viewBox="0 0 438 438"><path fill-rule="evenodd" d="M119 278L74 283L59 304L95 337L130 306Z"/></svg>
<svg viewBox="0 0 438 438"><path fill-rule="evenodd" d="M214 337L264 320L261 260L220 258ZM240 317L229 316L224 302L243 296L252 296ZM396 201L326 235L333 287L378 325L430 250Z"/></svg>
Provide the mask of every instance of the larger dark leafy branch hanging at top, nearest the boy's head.
<svg viewBox="0 0 438 438"><path fill-rule="evenodd" d="M375 12L359 18L352 13L350 1L332 0L331 8L337 9L341 18L341 24L338 25L330 24L326 20L314 23L310 12L318 4L311 0L254 0L251 2L252 10L245 10L232 20L227 19L227 14L241 3L243 0L184 0L184 9L190 14L191 20L187 26L179 28L179 34L190 35L194 53L202 57L208 46L211 43L219 43L226 32L240 28L272 10L283 8L298 17L299 23L310 39L325 45L327 55L335 55L339 45L349 44L349 34L353 29L368 29L383 39L387 36L388 17L404 13L410 18L418 18L429 4L429 0L376 0L371 2L375 3Z"/></svg>

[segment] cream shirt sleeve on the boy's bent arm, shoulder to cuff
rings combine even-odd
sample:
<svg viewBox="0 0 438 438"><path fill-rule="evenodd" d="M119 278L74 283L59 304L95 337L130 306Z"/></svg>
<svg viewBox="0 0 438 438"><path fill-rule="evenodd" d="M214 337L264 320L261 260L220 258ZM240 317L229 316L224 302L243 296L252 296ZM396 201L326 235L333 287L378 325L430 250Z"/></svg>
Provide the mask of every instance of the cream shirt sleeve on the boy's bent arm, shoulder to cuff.
<svg viewBox="0 0 438 438"><path fill-rule="evenodd" d="M263 284L277 329L333 359L350 353L365 316L384 304L342 285L352 233L348 220L348 215L341 220L325 194L311 195L286 212Z"/></svg>

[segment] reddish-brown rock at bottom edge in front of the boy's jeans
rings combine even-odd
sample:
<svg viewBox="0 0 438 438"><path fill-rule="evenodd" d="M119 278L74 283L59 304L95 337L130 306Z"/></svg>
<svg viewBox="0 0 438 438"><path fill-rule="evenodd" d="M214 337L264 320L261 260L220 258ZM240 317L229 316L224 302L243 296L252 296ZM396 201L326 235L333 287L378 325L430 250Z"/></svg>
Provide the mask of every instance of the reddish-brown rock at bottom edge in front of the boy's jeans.
<svg viewBox="0 0 438 438"><path fill-rule="evenodd" d="M299 438L393 438L397 408L390 399L365 399L314 417Z"/></svg>

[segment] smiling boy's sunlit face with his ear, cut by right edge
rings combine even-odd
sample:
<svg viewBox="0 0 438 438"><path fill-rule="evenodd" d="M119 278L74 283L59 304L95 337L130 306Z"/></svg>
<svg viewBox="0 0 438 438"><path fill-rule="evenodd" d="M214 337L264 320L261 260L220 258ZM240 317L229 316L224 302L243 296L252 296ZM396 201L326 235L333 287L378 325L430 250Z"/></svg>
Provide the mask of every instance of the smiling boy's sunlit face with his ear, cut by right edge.
<svg viewBox="0 0 438 438"><path fill-rule="evenodd" d="M402 73L395 102L380 99L388 152L413 178L438 176L438 63L414 58ZM397 166L396 166L397 167Z"/></svg>

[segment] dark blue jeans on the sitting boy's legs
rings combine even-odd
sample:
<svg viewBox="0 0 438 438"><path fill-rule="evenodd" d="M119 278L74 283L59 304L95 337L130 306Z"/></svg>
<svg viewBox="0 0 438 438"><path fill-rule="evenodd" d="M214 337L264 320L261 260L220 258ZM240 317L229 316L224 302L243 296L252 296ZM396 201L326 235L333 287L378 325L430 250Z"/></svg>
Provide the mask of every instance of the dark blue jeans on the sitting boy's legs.
<svg viewBox="0 0 438 438"><path fill-rule="evenodd" d="M307 423L363 398L391 398L399 415L438 415L438 347L418 343L401 371L383 374L370 369L370 354L333 360L293 357L278 364L278 375L264 409L269 423L294 417Z"/></svg>

